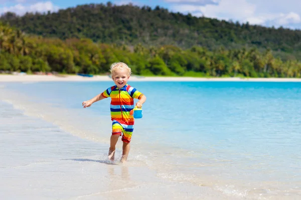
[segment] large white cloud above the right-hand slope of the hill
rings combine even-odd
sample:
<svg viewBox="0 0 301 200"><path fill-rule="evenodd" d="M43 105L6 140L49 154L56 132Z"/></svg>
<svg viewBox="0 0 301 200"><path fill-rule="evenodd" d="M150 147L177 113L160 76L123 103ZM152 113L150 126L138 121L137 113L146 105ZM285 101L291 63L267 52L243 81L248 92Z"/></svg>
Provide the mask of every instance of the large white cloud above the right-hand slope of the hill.
<svg viewBox="0 0 301 200"><path fill-rule="evenodd" d="M191 12L195 16L206 16L225 20L249 21L251 24L281 25L290 27L301 23L301 0L219 0L216 4L195 5L204 0L165 0L174 2L173 11ZM283 5L283 9L281 7ZM298 6L298 7L300 7Z"/></svg>

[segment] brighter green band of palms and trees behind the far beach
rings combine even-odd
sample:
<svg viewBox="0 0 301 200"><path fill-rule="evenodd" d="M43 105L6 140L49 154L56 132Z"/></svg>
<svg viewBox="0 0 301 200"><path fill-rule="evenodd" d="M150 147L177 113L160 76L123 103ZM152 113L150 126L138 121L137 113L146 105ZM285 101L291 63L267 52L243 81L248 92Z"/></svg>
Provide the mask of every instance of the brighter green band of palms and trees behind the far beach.
<svg viewBox="0 0 301 200"><path fill-rule="evenodd" d="M282 61L271 49L209 50L197 45L182 49L106 44L89 38L62 40L26 35L0 23L0 70L100 74L116 61L127 63L139 75L301 77L301 62Z"/></svg>

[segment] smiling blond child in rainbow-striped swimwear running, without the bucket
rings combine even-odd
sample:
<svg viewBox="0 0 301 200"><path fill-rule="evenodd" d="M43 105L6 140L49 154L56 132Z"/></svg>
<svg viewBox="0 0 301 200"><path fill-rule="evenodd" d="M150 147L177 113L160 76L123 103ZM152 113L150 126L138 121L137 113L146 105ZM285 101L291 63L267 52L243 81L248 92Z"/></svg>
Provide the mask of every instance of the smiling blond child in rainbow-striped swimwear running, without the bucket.
<svg viewBox="0 0 301 200"><path fill-rule="evenodd" d="M145 102L146 96L127 84L131 69L125 63L113 63L110 67L110 71L115 85L107 88L94 98L84 101L82 104L84 108L90 107L92 103L96 101L111 97L112 135L108 157L114 161L115 146L118 137L122 134L121 140L123 141L123 145L120 161L124 162L128 156L129 142L134 129L134 117L132 116L132 109L134 108L133 98L139 99L136 106L140 108Z"/></svg>

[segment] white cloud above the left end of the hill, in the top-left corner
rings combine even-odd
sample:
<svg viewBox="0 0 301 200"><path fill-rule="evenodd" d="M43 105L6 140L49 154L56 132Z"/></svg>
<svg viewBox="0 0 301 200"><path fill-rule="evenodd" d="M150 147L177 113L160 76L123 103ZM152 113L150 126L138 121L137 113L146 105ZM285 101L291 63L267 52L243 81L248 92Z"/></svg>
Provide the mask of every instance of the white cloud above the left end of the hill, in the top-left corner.
<svg viewBox="0 0 301 200"><path fill-rule="evenodd" d="M11 11L15 12L18 15L23 15L26 12L47 12L47 11L57 11L59 9L58 6L54 5L51 1L46 2L37 2L31 5L25 5L22 3L18 3L9 7L0 7L0 14Z"/></svg>

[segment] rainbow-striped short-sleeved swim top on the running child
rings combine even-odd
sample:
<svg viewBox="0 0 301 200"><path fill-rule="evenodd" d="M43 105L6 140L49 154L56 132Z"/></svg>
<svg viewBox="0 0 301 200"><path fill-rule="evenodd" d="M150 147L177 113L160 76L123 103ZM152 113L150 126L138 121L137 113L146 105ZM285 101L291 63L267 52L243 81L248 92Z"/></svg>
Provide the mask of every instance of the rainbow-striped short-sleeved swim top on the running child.
<svg viewBox="0 0 301 200"><path fill-rule="evenodd" d="M140 99L143 95L134 87L126 84L122 88L116 85L104 90L101 95L105 98L111 97L111 119L120 123L133 125L134 117L130 115L130 110L134 108L134 98Z"/></svg>

